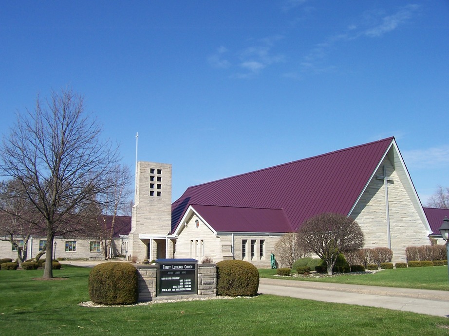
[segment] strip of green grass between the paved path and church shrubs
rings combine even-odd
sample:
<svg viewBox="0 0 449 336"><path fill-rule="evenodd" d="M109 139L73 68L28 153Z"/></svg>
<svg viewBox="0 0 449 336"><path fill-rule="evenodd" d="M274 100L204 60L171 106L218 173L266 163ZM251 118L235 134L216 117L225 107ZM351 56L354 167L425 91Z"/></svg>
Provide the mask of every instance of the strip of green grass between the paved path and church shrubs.
<svg viewBox="0 0 449 336"><path fill-rule="evenodd" d="M279 279L276 269L259 269L262 278ZM334 277L285 277L288 280L348 283L370 286L449 290L448 266L384 269L374 274L343 274Z"/></svg>

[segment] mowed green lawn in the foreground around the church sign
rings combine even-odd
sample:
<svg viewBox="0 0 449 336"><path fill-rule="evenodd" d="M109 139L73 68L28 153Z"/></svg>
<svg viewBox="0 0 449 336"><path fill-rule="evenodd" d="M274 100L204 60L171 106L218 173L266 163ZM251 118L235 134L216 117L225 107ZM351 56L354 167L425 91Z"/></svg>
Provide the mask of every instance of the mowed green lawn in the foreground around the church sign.
<svg viewBox="0 0 449 336"><path fill-rule="evenodd" d="M448 335L449 320L272 295L89 308L89 268L0 271L1 335Z"/></svg>

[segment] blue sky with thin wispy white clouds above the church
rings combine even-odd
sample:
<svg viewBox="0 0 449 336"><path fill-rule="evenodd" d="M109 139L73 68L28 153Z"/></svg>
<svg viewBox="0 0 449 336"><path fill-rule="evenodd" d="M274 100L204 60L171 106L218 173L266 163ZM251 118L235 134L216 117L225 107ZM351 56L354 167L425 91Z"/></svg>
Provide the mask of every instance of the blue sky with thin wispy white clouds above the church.
<svg viewBox="0 0 449 336"><path fill-rule="evenodd" d="M188 186L395 136L449 187L449 1L2 1L0 133L70 86Z"/></svg>

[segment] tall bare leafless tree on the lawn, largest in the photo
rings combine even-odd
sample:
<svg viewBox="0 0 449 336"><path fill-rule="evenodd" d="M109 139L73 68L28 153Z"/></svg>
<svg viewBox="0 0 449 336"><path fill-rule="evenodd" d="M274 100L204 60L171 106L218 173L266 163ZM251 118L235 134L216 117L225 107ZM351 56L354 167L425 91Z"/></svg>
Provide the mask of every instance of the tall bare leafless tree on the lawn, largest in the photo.
<svg viewBox="0 0 449 336"><path fill-rule="evenodd" d="M82 207L110 188L107 177L119 160L100 140L101 127L83 113L82 96L71 89L52 92L45 107L37 98L34 111L18 114L0 146L0 175L19 181L18 192L44 222L44 279L53 277L54 237L83 230Z"/></svg>

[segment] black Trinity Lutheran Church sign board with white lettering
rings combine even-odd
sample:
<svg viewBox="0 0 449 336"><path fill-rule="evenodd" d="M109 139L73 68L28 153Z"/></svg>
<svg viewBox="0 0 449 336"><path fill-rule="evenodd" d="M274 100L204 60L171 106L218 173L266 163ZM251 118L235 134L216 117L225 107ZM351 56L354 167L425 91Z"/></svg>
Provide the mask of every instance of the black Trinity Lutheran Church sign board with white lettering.
<svg viewBox="0 0 449 336"><path fill-rule="evenodd" d="M157 296L198 294L198 261L157 259Z"/></svg>

